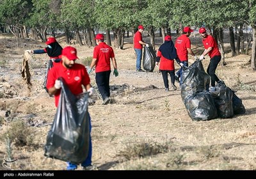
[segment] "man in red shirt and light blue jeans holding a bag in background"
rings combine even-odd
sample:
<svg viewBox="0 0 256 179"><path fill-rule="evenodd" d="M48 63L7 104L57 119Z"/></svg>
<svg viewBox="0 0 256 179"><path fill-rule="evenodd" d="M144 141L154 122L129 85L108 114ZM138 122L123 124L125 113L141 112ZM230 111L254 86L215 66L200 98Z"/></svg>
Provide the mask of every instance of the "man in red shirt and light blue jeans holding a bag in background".
<svg viewBox="0 0 256 179"><path fill-rule="evenodd" d="M144 72L141 69L141 58L142 58L142 45L146 45L148 47L148 43L143 42L142 40L142 33L144 31L143 26L138 26L138 31L134 34L133 44L134 44L134 51L136 52L136 71L137 72Z"/></svg>

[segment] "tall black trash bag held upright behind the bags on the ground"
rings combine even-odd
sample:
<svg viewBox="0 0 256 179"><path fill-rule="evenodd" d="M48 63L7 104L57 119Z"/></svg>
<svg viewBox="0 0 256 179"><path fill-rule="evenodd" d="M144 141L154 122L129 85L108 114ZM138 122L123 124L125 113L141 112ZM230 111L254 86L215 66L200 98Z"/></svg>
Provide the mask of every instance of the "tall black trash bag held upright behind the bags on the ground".
<svg viewBox="0 0 256 179"><path fill-rule="evenodd" d="M196 60L182 72L181 98L184 101L186 97L206 90L210 83L210 76L205 73L200 60Z"/></svg>

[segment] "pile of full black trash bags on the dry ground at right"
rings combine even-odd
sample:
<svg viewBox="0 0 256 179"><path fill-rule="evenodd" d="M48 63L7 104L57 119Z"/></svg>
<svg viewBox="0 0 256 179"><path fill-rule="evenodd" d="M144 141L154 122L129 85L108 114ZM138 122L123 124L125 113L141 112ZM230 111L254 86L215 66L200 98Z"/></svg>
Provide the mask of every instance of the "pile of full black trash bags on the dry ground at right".
<svg viewBox="0 0 256 179"><path fill-rule="evenodd" d="M219 81L209 90L210 76L202 61L196 60L182 73L181 98L192 120L206 121L244 114L245 107L236 91Z"/></svg>

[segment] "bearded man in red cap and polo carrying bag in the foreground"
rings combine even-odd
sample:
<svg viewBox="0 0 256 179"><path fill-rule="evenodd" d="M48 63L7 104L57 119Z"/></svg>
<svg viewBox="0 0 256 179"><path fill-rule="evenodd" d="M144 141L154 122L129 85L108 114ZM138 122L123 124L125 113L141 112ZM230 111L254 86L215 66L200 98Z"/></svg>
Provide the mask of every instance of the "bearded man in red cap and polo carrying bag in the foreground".
<svg viewBox="0 0 256 179"><path fill-rule="evenodd" d="M55 105L56 107L63 107L63 104L59 104L59 99L61 96L62 91L64 92L61 87L63 86L63 82L61 82L59 79L63 79L65 83L67 84L67 87L70 89L70 93L77 96L76 98L79 98L79 95L83 93L83 88L86 89L88 92L88 95L93 95L93 87L90 84L90 77L88 76L86 72L86 68L84 65L75 63L77 59L77 51L76 48L67 46L63 49L61 52L61 61L60 63L57 63L54 65L51 70L49 70L48 74L48 80L47 80L47 89L49 90L50 95L54 95L55 98ZM69 95L66 96L66 98L70 98ZM70 98L72 100L72 98ZM59 106L60 105L60 106ZM83 103L78 103L77 107L79 105L82 105L84 107ZM69 107L72 107L72 105L69 105ZM81 107L81 106L80 106ZM76 115L79 115L83 111L77 111L75 114L70 115L64 115L65 118L69 117L72 118ZM88 121L89 121L89 127L91 131L91 121L90 121L90 114L87 114ZM74 118L73 120L77 120ZM72 123L71 123L72 124ZM68 135L68 134L67 134ZM70 134L71 135L71 134ZM79 135L79 134L78 134ZM74 134L74 136L77 136L77 134ZM81 136L80 136L81 137ZM83 137L83 136L82 136ZM84 151L84 160L81 162L81 166L83 169L93 169L94 166L92 166L92 139L89 132L89 139L88 139L88 155L86 157L86 151ZM76 148L76 146L74 146ZM74 170L77 169L77 160L74 162L68 162L67 170Z"/></svg>

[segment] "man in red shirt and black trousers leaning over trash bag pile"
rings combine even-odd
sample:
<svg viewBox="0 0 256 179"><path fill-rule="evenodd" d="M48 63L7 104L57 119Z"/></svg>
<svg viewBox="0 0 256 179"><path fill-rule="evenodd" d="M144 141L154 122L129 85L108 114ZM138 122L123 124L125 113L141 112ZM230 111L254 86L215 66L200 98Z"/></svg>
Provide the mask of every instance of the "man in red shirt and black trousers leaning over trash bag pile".
<svg viewBox="0 0 256 179"><path fill-rule="evenodd" d="M220 79L217 77L215 72L218 64L220 63L221 54L218 49L216 40L213 38L213 36L207 35L205 27L201 27L199 29L199 33L203 38L202 42L205 48L204 52L202 53L199 59L203 60L204 56L206 56L207 54L210 56L211 59L209 66L207 68L207 74L211 76L211 86L214 87L215 82L220 82Z"/></svg>

